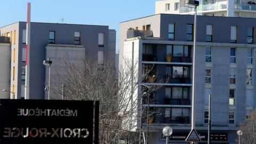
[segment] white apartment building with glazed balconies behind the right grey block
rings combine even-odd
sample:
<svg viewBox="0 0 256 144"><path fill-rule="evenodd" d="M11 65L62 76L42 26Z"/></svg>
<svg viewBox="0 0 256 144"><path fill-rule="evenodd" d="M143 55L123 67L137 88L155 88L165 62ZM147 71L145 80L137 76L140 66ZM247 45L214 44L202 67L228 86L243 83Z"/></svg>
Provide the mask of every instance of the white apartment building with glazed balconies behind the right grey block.
<svg viewBox="0 0 256 144"><path fill-rule="evenodd" d="M198 0L199 15L219 17L256 18L255 0ZM194 14L193 7L186 5L186 0L156 1L155 14Z"/></svg>

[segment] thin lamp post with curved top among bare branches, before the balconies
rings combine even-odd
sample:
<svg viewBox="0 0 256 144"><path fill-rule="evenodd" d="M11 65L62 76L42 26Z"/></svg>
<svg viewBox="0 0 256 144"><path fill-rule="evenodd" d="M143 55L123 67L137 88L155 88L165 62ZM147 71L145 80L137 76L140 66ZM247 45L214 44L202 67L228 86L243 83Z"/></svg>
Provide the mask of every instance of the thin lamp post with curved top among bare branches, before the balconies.
<svg viewBox="0 0 256 144"><path fill-rule="evenodd" d="M147 139L146 139L146 142L144 143L148 143L148 115L149 115L149 86L148 85L145 85L145 84L139 84L139 85L142 85L142 86L146 86L148 88L148 100L147 100ZM141 129L142 129L142 97L140 98L140 142L141 143Z"/></svg>

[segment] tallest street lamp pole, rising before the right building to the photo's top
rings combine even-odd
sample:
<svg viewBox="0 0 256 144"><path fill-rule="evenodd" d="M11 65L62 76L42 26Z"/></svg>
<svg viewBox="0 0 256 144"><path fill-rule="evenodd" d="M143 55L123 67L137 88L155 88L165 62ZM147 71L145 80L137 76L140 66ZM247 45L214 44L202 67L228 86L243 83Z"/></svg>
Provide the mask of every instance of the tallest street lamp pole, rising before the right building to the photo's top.
<svg viewBox="0 0 256 144"><path fill-rule="evenodd" d="M199 5L199 1L186 0L188 5L195 7L195 21L194 21L194 46L193 46L193 82L192 82L192 113L191 113L191 130L195 129L195 68L196 68L196 7ZM193 143L193 142L192 142Z"/></svg>

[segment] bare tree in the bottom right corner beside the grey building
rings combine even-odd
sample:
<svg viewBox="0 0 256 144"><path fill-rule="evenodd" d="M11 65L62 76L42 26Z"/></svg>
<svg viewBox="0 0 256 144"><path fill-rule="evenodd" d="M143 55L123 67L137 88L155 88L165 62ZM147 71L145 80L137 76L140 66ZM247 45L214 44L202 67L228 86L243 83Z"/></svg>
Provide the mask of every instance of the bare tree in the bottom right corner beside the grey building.
<svg viewBox="0 0 256 144"><path fill-rule="evenodd" d="M243 131L241 143L256 143L256 109L252 112L250 117L245 119L243 124L239 125L239 130Z"/></svg>

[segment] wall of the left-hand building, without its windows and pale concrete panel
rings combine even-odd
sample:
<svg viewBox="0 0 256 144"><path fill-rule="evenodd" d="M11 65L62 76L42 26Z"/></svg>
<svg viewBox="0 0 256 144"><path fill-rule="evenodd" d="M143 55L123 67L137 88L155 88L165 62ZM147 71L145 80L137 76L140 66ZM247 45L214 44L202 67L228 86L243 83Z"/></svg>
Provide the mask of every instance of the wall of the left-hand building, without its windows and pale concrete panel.
<svg viewBox="0 0 256 144"><path fill-rule="evenodd" d="M11 61L13 61L14 49L16 61L11 62L11 67L15 67L15 71L14 80L11 81L10 91L17 93L15 95L17 99L23 98L23 87L25 86L25 81L21 78L22 67L25 67L24 53L22 58L22 49L26 47L26 43L23 43L23 30L26 30L26 22L17 22L0 28L0 35L5 35L12 31ZM80 32L80 45L84 47L86 57L98 60L98 51L103 51L105 59L115 61L115 30L110 30L108 26L31 22L30 99L45 98L44 87L46 74L43 60L46 58L45 47L49 43L49 31L55 31L55 44L63 45L74 45L74 33L78 31ZM98 44L99 33L103 33L103 45ZM113 63L114 67L115 62ZM13 79L12 74L13 69L11 69L11 79ZM14 87L14 90L12 87Z"/></svg>

